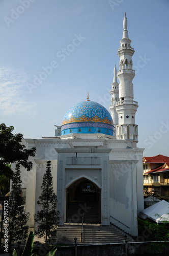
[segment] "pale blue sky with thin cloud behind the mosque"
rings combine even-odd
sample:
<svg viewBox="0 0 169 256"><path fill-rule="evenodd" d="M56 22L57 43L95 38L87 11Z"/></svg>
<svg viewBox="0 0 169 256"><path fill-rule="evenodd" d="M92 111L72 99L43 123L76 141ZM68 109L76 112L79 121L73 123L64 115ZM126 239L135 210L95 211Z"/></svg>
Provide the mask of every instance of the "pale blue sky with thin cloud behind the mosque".
<svg viewBox="0 0 169 256"><path fill-rule="evenodd" d="M88 91L109 110L125 11L137 147L169 156L168 0L1 0L0 123L24 138L54 137Z"/></svg>

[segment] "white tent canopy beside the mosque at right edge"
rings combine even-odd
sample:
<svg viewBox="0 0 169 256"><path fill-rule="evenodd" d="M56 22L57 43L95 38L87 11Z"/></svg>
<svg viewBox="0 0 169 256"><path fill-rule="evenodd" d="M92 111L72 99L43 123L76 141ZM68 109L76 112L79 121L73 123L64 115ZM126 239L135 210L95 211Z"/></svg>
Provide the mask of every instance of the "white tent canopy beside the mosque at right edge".
<svg viewBox="0 0 169 256"><path fill-rule="evenodd" d="M169 203L162 200L147 209L142 210L139 215L143 219L149 218L157 223L162 223L164 221L168 221L169 223Z"/></svg>

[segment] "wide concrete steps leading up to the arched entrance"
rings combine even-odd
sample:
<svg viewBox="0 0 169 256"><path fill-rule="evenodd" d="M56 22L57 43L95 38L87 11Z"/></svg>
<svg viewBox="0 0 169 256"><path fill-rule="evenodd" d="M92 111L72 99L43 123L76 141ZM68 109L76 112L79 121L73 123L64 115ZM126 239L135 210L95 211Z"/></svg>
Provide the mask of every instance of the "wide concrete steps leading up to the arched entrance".
<svg viewBox="0 0 169 256"><path fill-rule="evenodd" d="M106 244L106 243L123 243L125 233L115 226L101 226L99 224L84 224L83 235L81 241L81 225L80 224L65 224L58 226L57 237L53 237L52 244L73 244L74 238L77 238L77 244ZM127 241L133 241L132 238L126 234ZM35 241L44 243L44 239L37 239Z"/></svg>

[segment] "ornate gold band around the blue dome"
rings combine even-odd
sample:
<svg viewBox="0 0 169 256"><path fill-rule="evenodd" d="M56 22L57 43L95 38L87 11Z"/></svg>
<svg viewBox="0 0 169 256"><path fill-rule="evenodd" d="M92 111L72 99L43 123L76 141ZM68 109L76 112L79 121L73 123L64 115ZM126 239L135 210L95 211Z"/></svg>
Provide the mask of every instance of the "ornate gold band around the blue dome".
<svg viewBox="0 0 169 256"><path fill-rule="evenodd" d="M99 122L99 123L108 123L108 124L113 125L113 123L107 117L101 119L97 115L95 115L92 118L86 117L85 115L82 115L79 118L71 116L69 119L65 118L62 122L62 125L67 124L67 123L75 123L75 122Z"/></svg>

